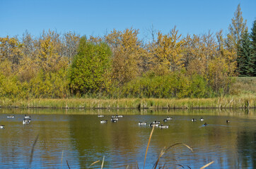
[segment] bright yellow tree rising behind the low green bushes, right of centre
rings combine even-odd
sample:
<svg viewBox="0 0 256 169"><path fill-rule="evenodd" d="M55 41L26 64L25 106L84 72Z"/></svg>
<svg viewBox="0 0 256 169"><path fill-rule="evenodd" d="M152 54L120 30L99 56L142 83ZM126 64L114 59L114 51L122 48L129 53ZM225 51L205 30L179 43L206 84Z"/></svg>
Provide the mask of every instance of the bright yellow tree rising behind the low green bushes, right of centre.
<svg viewBox="0 0 256 169"><path fill-rule="evenodd" d="M149 49L152 54L151 65L156 73L165 74L184 67L184 61L182 61L184 40L180 40L180 37L175 27L168 35L158 32L156 42Z"/></svg>

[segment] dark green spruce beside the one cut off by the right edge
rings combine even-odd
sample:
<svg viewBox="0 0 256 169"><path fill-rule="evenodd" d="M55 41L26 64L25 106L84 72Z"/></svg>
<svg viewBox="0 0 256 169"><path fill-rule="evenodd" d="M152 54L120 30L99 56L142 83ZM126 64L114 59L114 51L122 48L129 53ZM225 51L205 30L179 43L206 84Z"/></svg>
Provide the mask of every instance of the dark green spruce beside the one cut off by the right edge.
<svg viewBox="0 0 256 169"><path fill-rule="evenodd" d="M254 61L252 58L252 42L250 41L249 33L245 30L241 39L241 44L238 46L238 73L240 76L253 76Z"/></svg>

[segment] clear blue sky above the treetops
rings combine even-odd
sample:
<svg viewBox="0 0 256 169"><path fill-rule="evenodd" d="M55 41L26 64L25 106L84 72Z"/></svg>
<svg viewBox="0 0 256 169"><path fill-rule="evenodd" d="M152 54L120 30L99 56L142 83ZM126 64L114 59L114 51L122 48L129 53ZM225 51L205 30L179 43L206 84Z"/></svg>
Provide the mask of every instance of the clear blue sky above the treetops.
<svg viewBox="0 0 256 169"><path fill-rule="evenodd" d="M182 35L221 29L227 33L238 4L250 29L256 18L255 0L0 0L0 37L21 37L25 30L38 36L49 29L103 36L133 27L144 38L151 25L164 34L175 25Z"/></svg>

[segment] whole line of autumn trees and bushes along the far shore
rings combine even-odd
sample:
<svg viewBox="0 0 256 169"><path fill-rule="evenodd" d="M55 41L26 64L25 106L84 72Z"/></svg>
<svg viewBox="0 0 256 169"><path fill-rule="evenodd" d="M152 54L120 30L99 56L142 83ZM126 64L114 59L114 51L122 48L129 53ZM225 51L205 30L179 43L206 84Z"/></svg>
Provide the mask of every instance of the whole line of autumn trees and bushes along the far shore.
<svg viewBox="0 0 256 169"><path fill-rule="evenodd" d="M230 93L233 76L255 76L254 21L248 32L240 5L228 35L167 34L151 27L103 37L43 31L0 37L0 97L212 97Z"/></svg>

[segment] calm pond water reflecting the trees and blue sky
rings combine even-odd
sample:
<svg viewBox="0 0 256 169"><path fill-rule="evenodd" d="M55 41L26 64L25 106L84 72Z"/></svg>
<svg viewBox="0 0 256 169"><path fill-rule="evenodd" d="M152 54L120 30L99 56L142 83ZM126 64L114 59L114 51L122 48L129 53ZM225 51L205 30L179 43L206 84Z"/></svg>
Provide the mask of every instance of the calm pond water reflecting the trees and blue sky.
<svg viewBox="0 0 256 169"><path fill-rule="evenodd" d="M8 114L15 118L7 118ZM24 115L32 123L23 125ZM105 118L98 118L104 114ZM112 114L122 114L111 123ZM143 168L152 128L139 126L167 116L168 129L155 128L145 168L152 168L161 149L175 143L161 158L159 167L256 168L256 110L107 111L0 108L0 168ZM204 121L201 122L201 116ZM197 118L192 122L192 118ZM108 120L100 124L100 120ZM230 120L230 123L226 123ZM204 123L209 125L203 126ZM31 154L33 143L37 142ZM33 155L33 156L31 156ZM31 163L30 163L31 162ZM187 166L186 166L187 165Z"/></svg>

